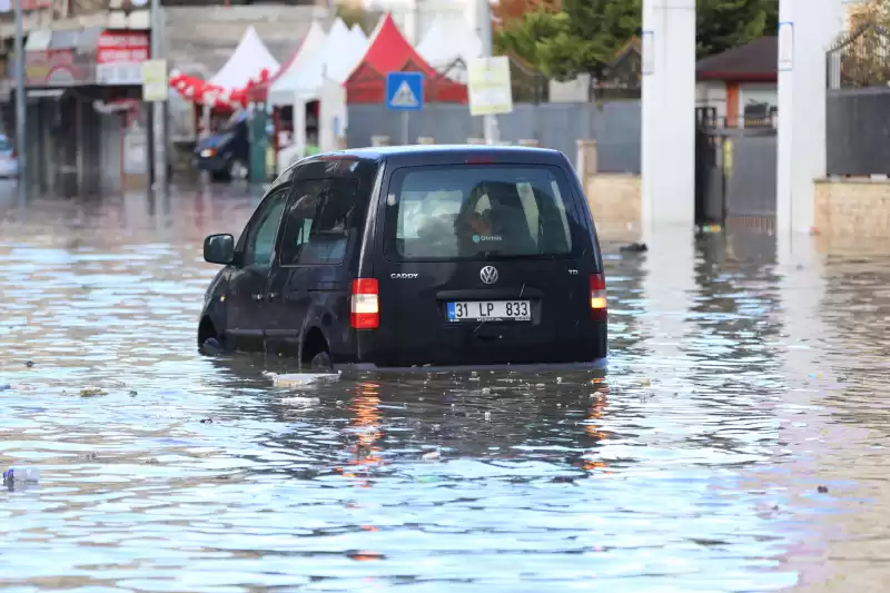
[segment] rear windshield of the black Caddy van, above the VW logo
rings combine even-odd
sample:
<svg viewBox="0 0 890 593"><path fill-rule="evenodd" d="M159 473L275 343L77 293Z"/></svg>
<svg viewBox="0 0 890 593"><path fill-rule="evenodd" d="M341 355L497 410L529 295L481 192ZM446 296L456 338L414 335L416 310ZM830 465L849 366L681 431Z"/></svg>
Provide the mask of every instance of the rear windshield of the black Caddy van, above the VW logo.
<svg viewBox="0 0 890 593"><path fill-rule="evenodd" d="M572 253L571 194L548 166L406 167L386 201L387 257L477 259Z"/></svg>

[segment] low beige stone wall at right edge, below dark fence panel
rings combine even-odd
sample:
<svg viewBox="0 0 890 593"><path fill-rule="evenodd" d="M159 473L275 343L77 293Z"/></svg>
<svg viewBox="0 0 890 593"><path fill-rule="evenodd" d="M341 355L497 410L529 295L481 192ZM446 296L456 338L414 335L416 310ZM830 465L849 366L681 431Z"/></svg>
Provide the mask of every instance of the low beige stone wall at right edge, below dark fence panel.
<svg viewBox="0 0 890 593"><path fill-rule="evenodd" d="M815 228L824 239L890 241L890 180L817 180Z"/></svg>

